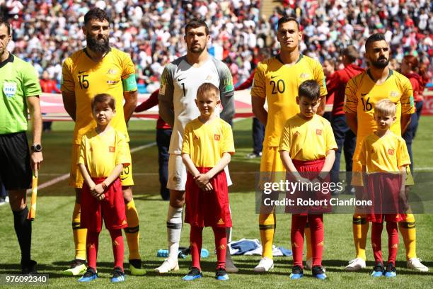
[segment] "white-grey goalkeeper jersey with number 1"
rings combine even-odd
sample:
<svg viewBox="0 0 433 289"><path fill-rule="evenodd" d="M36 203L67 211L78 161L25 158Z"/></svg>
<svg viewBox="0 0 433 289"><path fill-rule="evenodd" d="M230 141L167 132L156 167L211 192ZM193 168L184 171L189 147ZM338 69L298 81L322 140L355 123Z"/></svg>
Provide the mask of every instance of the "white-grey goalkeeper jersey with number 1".
<svg viewBox="0 0 433 289"><path fill-rule="evenodd" d="M209 55L200 67L192 67L183 56L164 68L158 99L173 103L174 126L169 148L171 154L181 153L185 125L200 115L195 98L198 87L205 82L219 88L222 106L220 116L231 122L234 114L234 87L226 64ZM215 113L219 115L218 108Z"/></svg>

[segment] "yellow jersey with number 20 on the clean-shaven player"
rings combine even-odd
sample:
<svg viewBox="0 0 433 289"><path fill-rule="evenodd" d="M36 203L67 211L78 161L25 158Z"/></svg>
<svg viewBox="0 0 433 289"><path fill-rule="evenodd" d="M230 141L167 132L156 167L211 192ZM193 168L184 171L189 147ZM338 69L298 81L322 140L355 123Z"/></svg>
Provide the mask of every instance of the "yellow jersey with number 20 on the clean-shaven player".
<svg viewBox="0 0 433 289"><path fill-rule="evenodd" d="M279 146L284 123L299 113L296 104L299 85L309 79L316 80L321 86L321 96L328 94L321 64L308 56L300 55L298 62L291 67L284 65L278 57L258 64L251 96L266 98L267 101L268 116L263 145Z"/></svg>

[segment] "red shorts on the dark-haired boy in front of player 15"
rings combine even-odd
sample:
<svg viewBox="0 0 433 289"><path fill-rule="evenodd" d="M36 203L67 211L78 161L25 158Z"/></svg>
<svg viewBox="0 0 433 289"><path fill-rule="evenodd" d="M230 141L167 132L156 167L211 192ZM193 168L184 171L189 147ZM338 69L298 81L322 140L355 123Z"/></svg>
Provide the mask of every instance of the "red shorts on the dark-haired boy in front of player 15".
<svg viewBox="0 0 433 289"><path fill-rule="evenodd" d="M98 184L105 178L92 178ZM122 183L117 178L105 189L105 198L97 200L91 196L87 183L81 189L81 227L91 232L100 232L104 219L107 229L123 229L128 227L125 215L125 201L123 200Z"/></svg>

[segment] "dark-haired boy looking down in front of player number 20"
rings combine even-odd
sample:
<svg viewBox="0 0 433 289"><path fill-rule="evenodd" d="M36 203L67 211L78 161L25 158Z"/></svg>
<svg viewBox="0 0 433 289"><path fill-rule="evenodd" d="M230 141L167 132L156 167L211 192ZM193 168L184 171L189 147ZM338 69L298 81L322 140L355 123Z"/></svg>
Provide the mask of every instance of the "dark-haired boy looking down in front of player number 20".
<svg viewBox="0 0 433 289"><path fill-rule="evenodd" d="M320 86L314 80L304 81L299 86L296 103L299 104L300 113L287 120L284 125L279 145L284 167L288 176L294 177L302 185L328 182L329 171L335 161L337 143L333 129L325 118L317 115L321 103ZM312 186L310 186L312 187ZM316 187L316 186L315 186ZM329 191L297 192L299 196L312 196L330 198ZM313 255L313 277L325 279L325 269L322 266L323 256L323 208L304 207L296 208L291 217L291 248L293 251L294 266L290 274L291 279L304 276L302 254L304 249L304 229L306 222L311 229L311 249Z"/></svg>

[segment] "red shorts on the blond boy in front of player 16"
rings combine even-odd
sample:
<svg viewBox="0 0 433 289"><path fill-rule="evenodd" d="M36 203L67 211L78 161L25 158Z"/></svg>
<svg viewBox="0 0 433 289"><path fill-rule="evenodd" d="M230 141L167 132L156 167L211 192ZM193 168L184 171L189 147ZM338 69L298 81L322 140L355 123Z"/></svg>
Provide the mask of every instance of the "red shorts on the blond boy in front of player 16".
<svg viewBox="0 0 433 289"><path fill-rule="evenodd" d="M366 208L366 218L369 222L405 220L404 200L400 198L402 180L400 174L377 173L366 176L364 196L373 203Z"/></svg>

